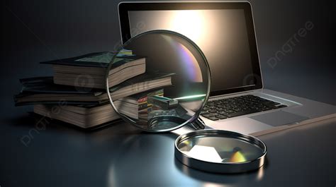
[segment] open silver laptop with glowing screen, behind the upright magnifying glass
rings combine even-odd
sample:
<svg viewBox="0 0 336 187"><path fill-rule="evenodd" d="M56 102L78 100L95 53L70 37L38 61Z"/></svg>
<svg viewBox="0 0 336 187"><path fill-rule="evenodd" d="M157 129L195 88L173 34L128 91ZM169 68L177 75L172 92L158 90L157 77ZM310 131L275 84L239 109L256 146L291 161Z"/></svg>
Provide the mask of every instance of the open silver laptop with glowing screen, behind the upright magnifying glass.
<svg viewBox="0 0 336 187"><path fill-rule="evenodd" d="M262 135L336 116L333 105L264 88L249 2L121 2L118 13L123 42L172 30L201 48L211 69L207 128Z"/></svg>

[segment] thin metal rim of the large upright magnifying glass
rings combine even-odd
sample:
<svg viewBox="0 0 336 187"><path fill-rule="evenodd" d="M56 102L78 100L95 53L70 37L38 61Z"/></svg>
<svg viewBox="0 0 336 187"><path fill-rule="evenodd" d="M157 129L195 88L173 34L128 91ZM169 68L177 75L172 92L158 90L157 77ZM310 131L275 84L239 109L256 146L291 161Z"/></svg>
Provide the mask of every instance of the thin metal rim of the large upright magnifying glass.
<svg viewBox="0 0 336 187"><path fill-rule="evenodd" d="M111 59L111 62L108 64L108 68L107 68L106 75L105 75L106 92L107 92L107 95L108 95L108 100L109 100L110 104L112 105L113 109L117 112L117 114L119 114L119 116L121 116L121 119L123 119L124 121L132 121L132 125L133 126L136 126L137 128L140 128L143 131L147 131L147 132L159 133L159 132L174 131L177 128L181 128L182 126L185 126L187 123L191 123L191 122L195 121L198 118L198 116L199 116L199 114L201 112L201 109L203 109L204 105L206 105L206 101L208 101L208 97L210 95L210 87L211 87L211 71L210 71L210 66L208 64L208 60L206 59L206 56L203 54L202 50L198 47L198 45L195 42L193 42L192 40L190 40L188 37L186 37L184 35L181 35L179 32L174 32L174 31L171 31L171 30L150 30L150 31L142 32L142 33L140 33L138 35L135 35L135 37L131 37L127 42L125 42L121 47L119 47L119 49L118 49L118 51L117 51L116 54L118 54L119 52L121 52L122 49L124 49L125 47L127 47L127 45L130 44L130 42L132 42L136 38L141 37L142 35L148 35L148 34L151 34L151 33L155 33L155 34L163 33L163 34L170 34L170 35L174 35L174 36L180 37L181 39L186 40L187 42L189 42L189 44L191 44L193 47L195 47L195 49L199 52L199 54L201 54L201 58L205 62L206 71L208 73L208 88L207 88L207 91L206 91L206 97L204 98L204 102L201 105L201 107L198 109L198 111L196 111L195 114L194 114L194 116L192 116L190 119L186 120L184 123L181 123L179 126L175 126L173 128L167 128L167 129L148 129L148 128L142 128L141 126L137 126L135 121L133 121L132 119L128 118L127 116L121 114L118 111L118 109L116 108L116 106L113 104L113 100L111 98L111 94L110 94L110 91L109 91L109 87L108 87L108 73L109 73L109 71L111 69L111 66L112 66L111 62L116 59L117 55L114 55L112 57L112 59Z"/></svg>

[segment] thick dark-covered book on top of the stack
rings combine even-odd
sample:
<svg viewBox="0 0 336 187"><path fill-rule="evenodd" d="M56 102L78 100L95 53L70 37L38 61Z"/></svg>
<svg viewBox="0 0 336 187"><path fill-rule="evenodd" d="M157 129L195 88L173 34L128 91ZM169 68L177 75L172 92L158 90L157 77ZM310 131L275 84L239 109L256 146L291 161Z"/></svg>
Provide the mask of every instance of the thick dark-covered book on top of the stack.
<svg viewBox="0 0 336 187"><path fill-rule="evenodd" d="M112 87L129 78L145 73L145 57L119 53L114 59L108 74L108 83ZM106 88L106 73L113 52L96 52L68 59L44 61L51 64L54 71L54 83L84 88Z"/></svg>

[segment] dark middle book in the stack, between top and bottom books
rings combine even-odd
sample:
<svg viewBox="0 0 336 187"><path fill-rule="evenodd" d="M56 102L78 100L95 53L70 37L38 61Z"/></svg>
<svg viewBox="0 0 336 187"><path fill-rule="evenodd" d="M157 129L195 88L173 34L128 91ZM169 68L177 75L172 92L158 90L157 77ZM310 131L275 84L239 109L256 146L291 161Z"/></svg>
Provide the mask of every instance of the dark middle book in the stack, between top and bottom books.
<svg viewBox="0 0 336 187"><path fill-rule="evenodd" d="M174 73L146 73L110 88L113 100L128 97L147 90L172 85ZM23 88L14 96L16 106L26 104L57 104L60 100L68 104L101 104L108 101L104 90L56 85L52 77L25 78L20 80Z"/></svg>

